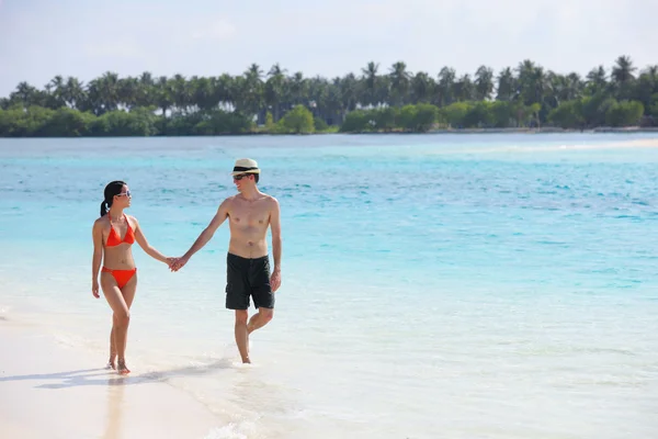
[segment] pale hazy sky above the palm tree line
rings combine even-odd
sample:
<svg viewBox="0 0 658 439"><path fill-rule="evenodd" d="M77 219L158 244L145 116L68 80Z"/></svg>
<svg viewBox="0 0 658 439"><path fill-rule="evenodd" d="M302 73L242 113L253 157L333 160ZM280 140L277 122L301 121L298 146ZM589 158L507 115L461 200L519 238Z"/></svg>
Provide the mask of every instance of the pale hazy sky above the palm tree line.
<svg viewBox="0 0 658 439"><path fill-rule="evenodd" d="M0 97L57 75L238 75L252 63L328 78L371 60L434 77L524 59L586 75L621 55L643 69L658 64L656 16L656 0L0 0Z"/></svg>

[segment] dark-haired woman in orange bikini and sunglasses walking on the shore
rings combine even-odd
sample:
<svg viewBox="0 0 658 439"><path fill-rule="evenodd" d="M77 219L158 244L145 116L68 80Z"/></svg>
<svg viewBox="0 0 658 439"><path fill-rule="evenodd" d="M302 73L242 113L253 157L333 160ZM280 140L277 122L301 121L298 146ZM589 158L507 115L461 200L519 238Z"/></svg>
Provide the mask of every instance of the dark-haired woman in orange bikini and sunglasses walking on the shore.
<svg viewBox="0 0 658 439"><path fill-rule="evenodd" d="M146 240L139 223L127 216L124 210L131 206L131 190L123 181L112 181L105 187L105 200L101 203L101 217L93 223L92 286L94 297L99 295L99 269L101 259L101 288L112 307L112 331L110 333L109 368L120 374L131 373L126 367L126 338L131 320L131 305L137 289L137 268L131 246L137 241L150 257L169 266L174 258L167 258ZM103 251L104 250L104 251ZM117 364L114 360L117 358Z"/></svg>

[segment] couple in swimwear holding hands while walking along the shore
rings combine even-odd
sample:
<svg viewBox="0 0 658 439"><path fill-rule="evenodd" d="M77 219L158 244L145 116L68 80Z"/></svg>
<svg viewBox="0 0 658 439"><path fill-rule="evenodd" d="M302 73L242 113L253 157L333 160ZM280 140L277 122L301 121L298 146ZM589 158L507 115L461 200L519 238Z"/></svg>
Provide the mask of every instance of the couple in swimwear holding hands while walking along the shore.
<svg viewBox="0 0 658 439"><path fill-rule="evenodd" d="M242 362L251 362L249 335L272 319L274 292L281 285L280 206L276 199L259 191L259 177L256 160L236 161L232 179L238 193L219 204L208 226L180 258L168 258L156 250L144 236L137 218L124 213L131 206L131 190L125 182L112 181L105 187L101 217L94 222L92 232L92 293L100 297L99 291L102 290L113 312L109 368L120 374L131 372L126 367L125 351L129 309L137 289L132 245L137 241L147 255L178 271L213 238L225 219L228 219L230 229L226 257L226 307L236 313L235 337ZM272 232L273 270L270 270L265 240L268 227ZM250 296L258 313L249 319Z"/></svg>

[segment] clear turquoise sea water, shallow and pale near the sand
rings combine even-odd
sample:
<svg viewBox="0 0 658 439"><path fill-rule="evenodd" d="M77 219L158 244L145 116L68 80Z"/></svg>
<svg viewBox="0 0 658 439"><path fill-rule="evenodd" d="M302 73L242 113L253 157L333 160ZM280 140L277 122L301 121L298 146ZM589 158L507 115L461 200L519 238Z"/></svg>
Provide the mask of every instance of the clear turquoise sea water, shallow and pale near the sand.
<svg viewBox="0 0 658 439"><path fill-rule="evenodd" d="M208 437L649 438L658 431L656 135L0 140L0 309L104 361L91 225L126 180L183 254L236 158L281 203L275 317L234 368L224 225L178 273L137 246L133 369ZM194 365L195 373L179 373ZM186 370L186 369L185 369ZM148 378L148 375L147 375ZM139 378L136 378L139 379ZM626 436L627 435L627 436Z"/></svg>

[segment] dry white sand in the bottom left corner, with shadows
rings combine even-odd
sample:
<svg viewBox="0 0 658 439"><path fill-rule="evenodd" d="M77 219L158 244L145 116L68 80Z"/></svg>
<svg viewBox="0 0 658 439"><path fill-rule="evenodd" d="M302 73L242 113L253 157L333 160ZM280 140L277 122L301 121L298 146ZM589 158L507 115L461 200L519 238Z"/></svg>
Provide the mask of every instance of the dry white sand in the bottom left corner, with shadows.
<svg viewBox="0 0 658 439"><path fill-rule="evenodd" d="M0 319L0 352L2 438L203 438L222 425L184 391L118 376L35 327Z"/></svg>

